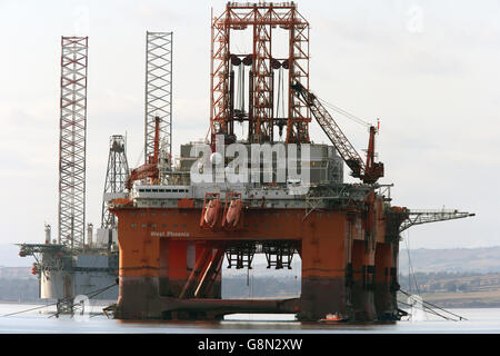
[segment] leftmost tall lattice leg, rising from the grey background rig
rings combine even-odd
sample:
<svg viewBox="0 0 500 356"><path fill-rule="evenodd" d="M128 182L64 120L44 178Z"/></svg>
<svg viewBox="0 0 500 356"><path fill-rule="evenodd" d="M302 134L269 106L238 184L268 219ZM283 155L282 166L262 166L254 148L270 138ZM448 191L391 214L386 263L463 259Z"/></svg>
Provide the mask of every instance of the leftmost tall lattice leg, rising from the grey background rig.
<svg viewBox="0 0 500 356"><path fill-rule="evenodd" d="M82 248L86 230L88 37L61 38L58 243Z"/></svg>

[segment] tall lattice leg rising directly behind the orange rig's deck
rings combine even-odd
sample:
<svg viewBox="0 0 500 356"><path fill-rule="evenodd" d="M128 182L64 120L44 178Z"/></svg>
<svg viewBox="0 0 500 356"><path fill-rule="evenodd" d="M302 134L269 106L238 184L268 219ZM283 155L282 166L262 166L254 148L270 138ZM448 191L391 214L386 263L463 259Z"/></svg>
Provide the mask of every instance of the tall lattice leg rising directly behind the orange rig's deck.
<svg viewBox="0 0 500 356"><path fill-rule="evenodd" d="M172 152L172 34L146 32L144 162L154 154L156 117L160 118L160 141Z"/></svg>

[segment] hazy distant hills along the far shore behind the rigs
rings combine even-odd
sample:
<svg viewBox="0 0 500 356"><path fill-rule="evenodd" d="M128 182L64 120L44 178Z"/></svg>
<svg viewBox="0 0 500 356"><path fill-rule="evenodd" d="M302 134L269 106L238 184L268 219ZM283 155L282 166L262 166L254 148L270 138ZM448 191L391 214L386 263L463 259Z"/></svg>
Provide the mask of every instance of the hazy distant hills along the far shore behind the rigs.
<svg viewBox="0 0 500 356"><path fill-rule="evenodd" d="M30 274L33 258L21 258L18 253L16 245L0 245L0 300L39 301L38 279ZM416 249L410 250L410 258L413 276L408 276L408 251L400 250L402 290L418 291L441 307L500 307L500 247ZM292 269L276 270L268 269L266 257L258 255L252 266L251 270L227 268L224 261L224 298L300 295L300 258L293 258Z"/></svg>

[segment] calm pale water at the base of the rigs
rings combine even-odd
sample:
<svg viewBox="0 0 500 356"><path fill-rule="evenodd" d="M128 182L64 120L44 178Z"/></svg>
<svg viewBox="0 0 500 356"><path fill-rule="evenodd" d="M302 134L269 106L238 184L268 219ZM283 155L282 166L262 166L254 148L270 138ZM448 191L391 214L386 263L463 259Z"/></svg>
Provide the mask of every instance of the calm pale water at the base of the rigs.
<svg viewBox="0 0 500 356"><path fill-rule="evenodd" d="M418 320L402 320L392 325L322 325L318 323L299 323L292 315L248 315L234 314L223 322L120 322L108 319L103 315L74 319L69 316L49 317L51 307L40 310L4 316L26 310L37 305L0 304L1 334L37 333L169 333L169 334L217 334L217 333L383 333L383 334L500 334L500 308L491 309L450 309L468 320L449 322L429 314L420 314ZM92 307L94 313L101 307Z"/></svg>

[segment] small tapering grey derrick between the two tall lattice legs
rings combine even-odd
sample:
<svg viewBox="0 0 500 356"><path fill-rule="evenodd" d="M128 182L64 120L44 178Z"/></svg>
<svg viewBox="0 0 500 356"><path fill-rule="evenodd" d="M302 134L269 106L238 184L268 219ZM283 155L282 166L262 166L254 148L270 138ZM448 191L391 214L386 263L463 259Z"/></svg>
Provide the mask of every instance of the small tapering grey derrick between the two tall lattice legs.
<svg viewBox="0 0 500 356"><path fill-rule="evenodd" d="M117 217L109 212L106 201L117 198L126 191L129 177L129 165L126 156L126 141L123 136L113 135L109 139L108 170L106 172L104 199L102 201L101 228L116 229Z"/></svg>

